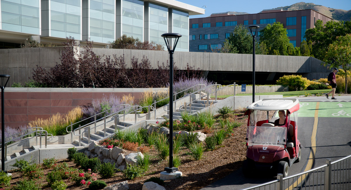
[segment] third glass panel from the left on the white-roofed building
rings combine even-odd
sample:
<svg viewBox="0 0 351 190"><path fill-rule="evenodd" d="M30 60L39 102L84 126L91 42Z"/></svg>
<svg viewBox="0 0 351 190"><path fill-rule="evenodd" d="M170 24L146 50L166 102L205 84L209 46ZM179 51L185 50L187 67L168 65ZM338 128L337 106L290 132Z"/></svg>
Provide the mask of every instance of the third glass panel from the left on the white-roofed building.
<svg viewBox="0 0 351 190"><path fill-rule="evenodd" d="M115 1L90 0L89 37L91 41L107 43L115 39Z"/></svg>

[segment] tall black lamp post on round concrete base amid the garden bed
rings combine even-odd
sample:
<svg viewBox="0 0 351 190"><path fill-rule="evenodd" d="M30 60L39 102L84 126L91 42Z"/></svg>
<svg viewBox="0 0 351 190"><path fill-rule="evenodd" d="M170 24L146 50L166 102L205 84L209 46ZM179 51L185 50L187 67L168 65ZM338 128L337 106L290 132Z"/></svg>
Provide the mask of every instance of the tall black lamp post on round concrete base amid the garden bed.
<svg viewBox="0 0 351 190"><path fill-rule="evenodd" d="M173 173L178 171L178 168L173 167L173 53L181 35L178 33L164 33L161 35L161 37L163 37L165 40L168 53L170 54L170 165L168 168L165 168L165 171L168 173ZM172 38L175 38L173 48L170 46L169 42L172 40Z"/></svg>

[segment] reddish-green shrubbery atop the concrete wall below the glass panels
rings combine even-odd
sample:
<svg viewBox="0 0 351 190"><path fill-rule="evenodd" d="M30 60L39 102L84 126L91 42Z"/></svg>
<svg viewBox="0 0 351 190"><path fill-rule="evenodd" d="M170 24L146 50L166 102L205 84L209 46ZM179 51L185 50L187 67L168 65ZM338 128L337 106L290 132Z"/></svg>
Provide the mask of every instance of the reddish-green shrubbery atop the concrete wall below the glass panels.
<svg viewBox="0 0 351 190"><path fill-rule="evenodd" d="M127 37L126 34L123 34L121 37L117 38L117 40L108 43L110 44L110 48L113 49L165 50L162 45L156 44L153 41L141 42L139 38Z"/></svg>

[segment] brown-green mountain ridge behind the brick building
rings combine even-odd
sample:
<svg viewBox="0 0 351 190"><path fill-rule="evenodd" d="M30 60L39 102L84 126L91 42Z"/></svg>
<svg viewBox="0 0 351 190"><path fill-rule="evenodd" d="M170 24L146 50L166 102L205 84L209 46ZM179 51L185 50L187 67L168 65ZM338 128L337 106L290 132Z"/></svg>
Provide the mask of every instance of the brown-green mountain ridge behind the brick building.
<svg viewBox="0 0 351 190"><path fill-rule="evenodd" d="M316 5L313 3L299 2L290 6L277 7L277 8L283 8L283 10L287 10L287 11L313 9L314 11L317 11L321 14L324 14L327 17L330 17L334 20L339 20L339 21L350 21L350 18L351 18L351 10L345 11L343 9L335 9L335 8L325 7L323 5Z"/></svg>

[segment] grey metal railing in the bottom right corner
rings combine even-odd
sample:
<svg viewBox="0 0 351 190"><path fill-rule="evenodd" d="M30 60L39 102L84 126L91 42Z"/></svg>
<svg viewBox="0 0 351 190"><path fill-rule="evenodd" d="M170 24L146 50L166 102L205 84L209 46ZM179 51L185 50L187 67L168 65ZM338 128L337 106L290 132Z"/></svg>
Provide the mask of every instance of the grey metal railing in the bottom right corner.
<svg viewBox="0 0 351 190"><path fill-rule="evenodd" d="M243 190L349 190L351 189L350 162L351 155L334 162L326 159L326 164L317 168L284 178L282 174L278 174L274 181Z"/></svg>

